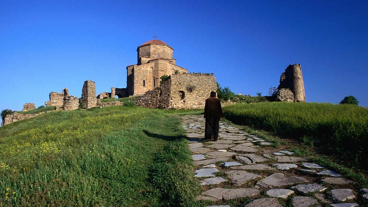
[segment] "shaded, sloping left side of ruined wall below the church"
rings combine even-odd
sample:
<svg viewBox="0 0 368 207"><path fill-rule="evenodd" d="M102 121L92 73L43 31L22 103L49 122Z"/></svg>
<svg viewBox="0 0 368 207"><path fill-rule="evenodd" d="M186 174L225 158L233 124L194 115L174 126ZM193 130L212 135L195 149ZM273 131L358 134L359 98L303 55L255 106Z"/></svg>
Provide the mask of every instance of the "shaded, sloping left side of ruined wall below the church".
<svg viewBox="0 0 368 207"><path fill-rule="evenodd" d="M137 106L146 108L170 108L170 76L159 88L149 90L144 95L131 99Z"/></svg>

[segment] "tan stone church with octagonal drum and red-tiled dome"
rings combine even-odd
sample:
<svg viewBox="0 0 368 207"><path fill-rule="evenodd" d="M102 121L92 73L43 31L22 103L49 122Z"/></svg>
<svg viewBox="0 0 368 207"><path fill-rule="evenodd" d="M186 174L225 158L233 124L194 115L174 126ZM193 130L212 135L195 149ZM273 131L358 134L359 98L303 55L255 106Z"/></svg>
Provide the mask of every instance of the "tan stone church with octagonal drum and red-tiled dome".
<svg viewBox="0 0 368 207"><path fill-rule="evenodd" d="M127 95L142 95L159 87L162 75L187 73L187 69L176 65L173 50L168 44L156 39L138 46L138 63L127 67Z"/></svg>

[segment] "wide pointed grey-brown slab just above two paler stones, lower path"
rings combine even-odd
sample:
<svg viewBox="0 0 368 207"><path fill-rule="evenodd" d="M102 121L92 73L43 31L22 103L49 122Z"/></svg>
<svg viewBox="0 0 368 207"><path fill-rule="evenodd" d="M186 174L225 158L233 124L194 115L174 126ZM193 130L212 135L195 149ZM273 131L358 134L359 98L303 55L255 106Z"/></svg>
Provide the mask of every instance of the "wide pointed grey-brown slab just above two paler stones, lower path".
<svg viewBox="0 0 368 207"><path fill-rule="evenodd" d="M286 176L282 173L275 173L256 183L261 188L273 188L283 185L293 185L295 183L308 182L304 177Z"/></svg>

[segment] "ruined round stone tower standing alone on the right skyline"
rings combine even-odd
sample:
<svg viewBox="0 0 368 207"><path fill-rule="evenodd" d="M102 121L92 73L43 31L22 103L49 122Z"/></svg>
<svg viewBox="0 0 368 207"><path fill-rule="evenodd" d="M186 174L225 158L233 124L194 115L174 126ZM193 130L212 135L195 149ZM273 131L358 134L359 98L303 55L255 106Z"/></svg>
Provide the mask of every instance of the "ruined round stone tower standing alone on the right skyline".
<svg viewBox="0 0 368 207"><path fill-rule="evenodd" d="M289 65L280 77L280 85L277 87L276 101L291 101L293 94L294 102L305 102L305 90L303 75L300 64Z"/></svg>

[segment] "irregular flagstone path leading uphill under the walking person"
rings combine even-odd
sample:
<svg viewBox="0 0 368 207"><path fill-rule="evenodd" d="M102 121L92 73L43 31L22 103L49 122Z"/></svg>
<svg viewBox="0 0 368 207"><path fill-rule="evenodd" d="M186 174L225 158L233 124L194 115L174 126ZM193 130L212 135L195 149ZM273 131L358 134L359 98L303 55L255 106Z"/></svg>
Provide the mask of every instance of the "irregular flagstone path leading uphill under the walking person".
<svg viewBox="0 0 368 207"><path fill-rule="evenodd" d="M203 186L197 200L218 201L220 206L230 207L226 200L252 197L245 207L282 207L276 198L287 199L294 194L294 207L353 207L357 206L356 196L368 198L368 189L348 189L353 181L342 175L309 163L307 158L295 157L287 149L272 149L268 147L272 143L225 122L220 121L219 140L212 142L204 139L203 115L181 118L197 166L194 176Z"/></svg>

